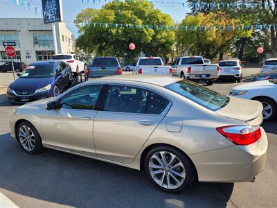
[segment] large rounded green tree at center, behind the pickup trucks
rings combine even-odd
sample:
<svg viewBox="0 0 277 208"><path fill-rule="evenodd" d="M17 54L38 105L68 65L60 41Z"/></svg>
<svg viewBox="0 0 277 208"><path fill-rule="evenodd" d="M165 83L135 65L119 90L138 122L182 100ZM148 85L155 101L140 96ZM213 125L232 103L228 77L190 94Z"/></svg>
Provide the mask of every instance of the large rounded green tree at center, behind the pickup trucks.
<svg viewBox="0 0 277 208"><path fill-rule="evenodd" d="M87 13L88 11L84 10L78 17L87 17ZM89 21L91 26L82 26L76 19L75 24L80 27L81 32L76 44L81 49L96 51L98 55L116 55L129 60L139 56L141 52L166 56L172 51L175 42L174 31L156 28L157 25L159 28L161 25L173 25L170 15L154 9L154 5L145 0L141 3L107 3L100 10L93 11ZM101 25L93 26L92 22ZM128 48L131 42L136 45L134 51Z"/></svg>

